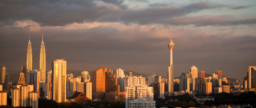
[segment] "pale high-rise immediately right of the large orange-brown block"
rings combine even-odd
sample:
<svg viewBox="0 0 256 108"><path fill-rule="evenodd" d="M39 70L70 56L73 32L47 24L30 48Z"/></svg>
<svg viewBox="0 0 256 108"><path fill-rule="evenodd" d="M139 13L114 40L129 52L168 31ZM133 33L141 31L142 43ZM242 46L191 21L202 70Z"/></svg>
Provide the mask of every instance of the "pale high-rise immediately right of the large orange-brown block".
<svg viewBox="0 0 256 108"><path fill-rule="evenodd" d="M120 92L124 92L124 73L122 69L116 69L117 84L120 86Z"/></svg>

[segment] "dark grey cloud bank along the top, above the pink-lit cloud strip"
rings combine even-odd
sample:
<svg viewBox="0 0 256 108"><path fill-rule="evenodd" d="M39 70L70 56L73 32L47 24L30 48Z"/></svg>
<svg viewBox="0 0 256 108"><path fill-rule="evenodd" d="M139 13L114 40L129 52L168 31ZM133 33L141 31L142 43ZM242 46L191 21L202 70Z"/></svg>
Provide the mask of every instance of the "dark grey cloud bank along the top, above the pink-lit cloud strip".
<svg viewBox="0 0 256 108"><path fill-rule="evenodd" d="M120 8L123 6L123 0L102 1ZM23 0L15 2L3 0L0 3L0 21L4 24L13 24L15 21L33 20L41 26L65 26L71 23L83 23L84 21L138 23L141 25L172 24L163 21L168 21L172 17L185 16L191 12L223 6L209 2L199 2L181 7L163 6L143 9L125 9L124 7L119 9L115 6L96 5L93 0L75 0L72 2L68 0L45 0L29 3Z"/></svg>

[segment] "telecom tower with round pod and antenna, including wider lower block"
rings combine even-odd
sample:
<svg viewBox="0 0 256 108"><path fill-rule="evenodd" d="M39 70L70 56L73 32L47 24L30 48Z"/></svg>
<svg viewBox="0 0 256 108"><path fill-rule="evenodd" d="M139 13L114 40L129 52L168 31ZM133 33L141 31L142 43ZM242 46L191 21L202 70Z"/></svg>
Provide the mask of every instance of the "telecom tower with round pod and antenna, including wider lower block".
<svg viewBox="0 0 256 108"><path fill-rule="evenodd" d="M168 47L170 49L170 64L168 67L168 96L174 96L173 91L173 64L172 64L172 49L174 48L175 44L172 42L172 29L171 29L171 39Z"/></svg>

